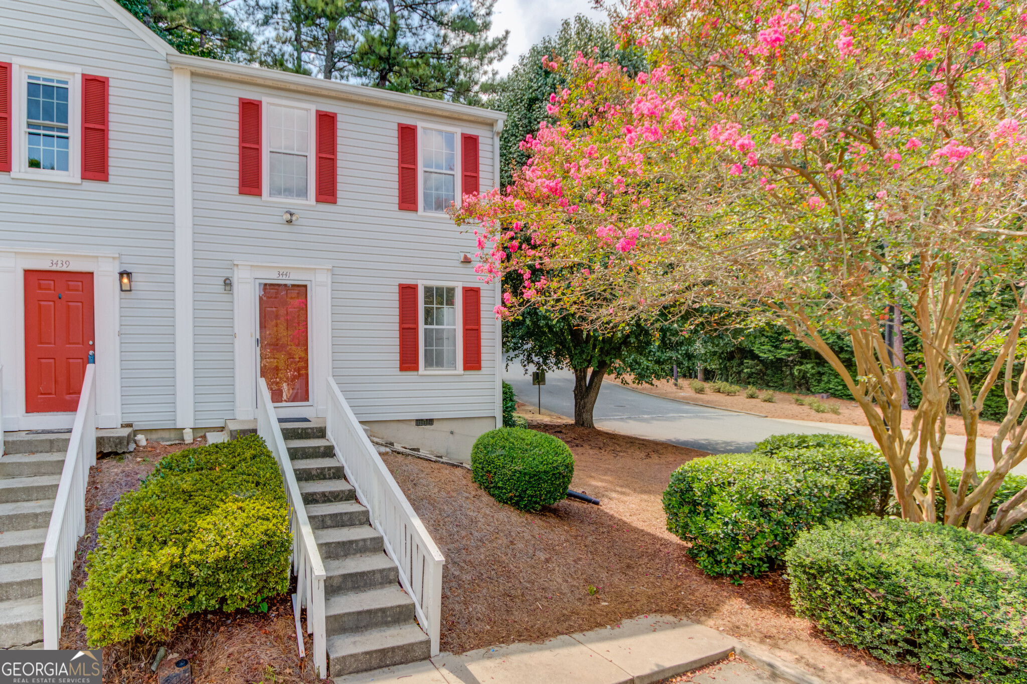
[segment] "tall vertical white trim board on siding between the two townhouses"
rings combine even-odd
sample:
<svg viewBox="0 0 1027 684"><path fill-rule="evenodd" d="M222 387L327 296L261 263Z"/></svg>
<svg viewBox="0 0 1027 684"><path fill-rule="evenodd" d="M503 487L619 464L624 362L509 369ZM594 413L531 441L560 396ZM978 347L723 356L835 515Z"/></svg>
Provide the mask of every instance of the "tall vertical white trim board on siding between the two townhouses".
<svg viewBox="0 0 1027 684"><path fill-rule="evenodd" d="M192 74L172 71L172 125L175 201L175 424L192 427L196 417Z"/></svg>

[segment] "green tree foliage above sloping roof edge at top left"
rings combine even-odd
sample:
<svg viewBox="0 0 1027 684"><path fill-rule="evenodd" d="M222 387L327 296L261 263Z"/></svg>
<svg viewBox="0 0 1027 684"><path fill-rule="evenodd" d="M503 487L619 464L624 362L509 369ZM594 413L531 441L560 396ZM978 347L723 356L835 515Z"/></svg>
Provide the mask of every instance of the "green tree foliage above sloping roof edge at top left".
<svg viewBox="0 0 1027 684"><path fill-rule="evenodd" d="M253 35L228 10L235 0L118 0L184 54L249 62Z"/></svg>

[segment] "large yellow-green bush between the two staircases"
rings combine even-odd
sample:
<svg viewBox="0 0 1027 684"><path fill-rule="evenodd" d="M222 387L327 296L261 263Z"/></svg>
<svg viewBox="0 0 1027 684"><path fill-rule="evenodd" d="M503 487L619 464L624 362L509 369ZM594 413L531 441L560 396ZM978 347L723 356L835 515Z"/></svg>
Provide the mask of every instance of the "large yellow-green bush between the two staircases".
<svg viewBox="0 0 1027 684"><path fill-rule="evenodd" d="M278 465L251 434L165 456L104 516L79 591L89 645L163 635L187 614L289 588Z"/></svg>

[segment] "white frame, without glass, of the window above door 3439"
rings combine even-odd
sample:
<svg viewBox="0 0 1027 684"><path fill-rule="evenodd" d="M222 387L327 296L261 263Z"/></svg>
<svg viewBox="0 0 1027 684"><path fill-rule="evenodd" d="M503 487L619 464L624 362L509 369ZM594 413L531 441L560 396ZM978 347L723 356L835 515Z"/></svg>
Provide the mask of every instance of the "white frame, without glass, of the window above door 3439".
<svg viewBox="0 0 1027 684"><path fill-rule="evenodd" d="M71 65L11 58L10 94L10 177L20 181L45 181L48 183L82 183L82 69ZM27 158L28 124L26 123L27 84L30 74L68 79L68 170L29 168Z"/></svg>

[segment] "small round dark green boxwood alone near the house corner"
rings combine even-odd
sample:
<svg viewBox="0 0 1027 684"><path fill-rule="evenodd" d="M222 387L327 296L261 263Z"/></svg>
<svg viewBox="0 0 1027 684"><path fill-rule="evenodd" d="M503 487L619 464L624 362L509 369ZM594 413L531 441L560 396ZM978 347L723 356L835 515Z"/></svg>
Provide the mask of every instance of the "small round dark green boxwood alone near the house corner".
<svg viewBox="0 0 1027 684"><path fill-rule="evenodd" d="M500 427L470 450L473 480L500 503L535 511L567 496L574 455L566 444L524 427Z"/></svg>

